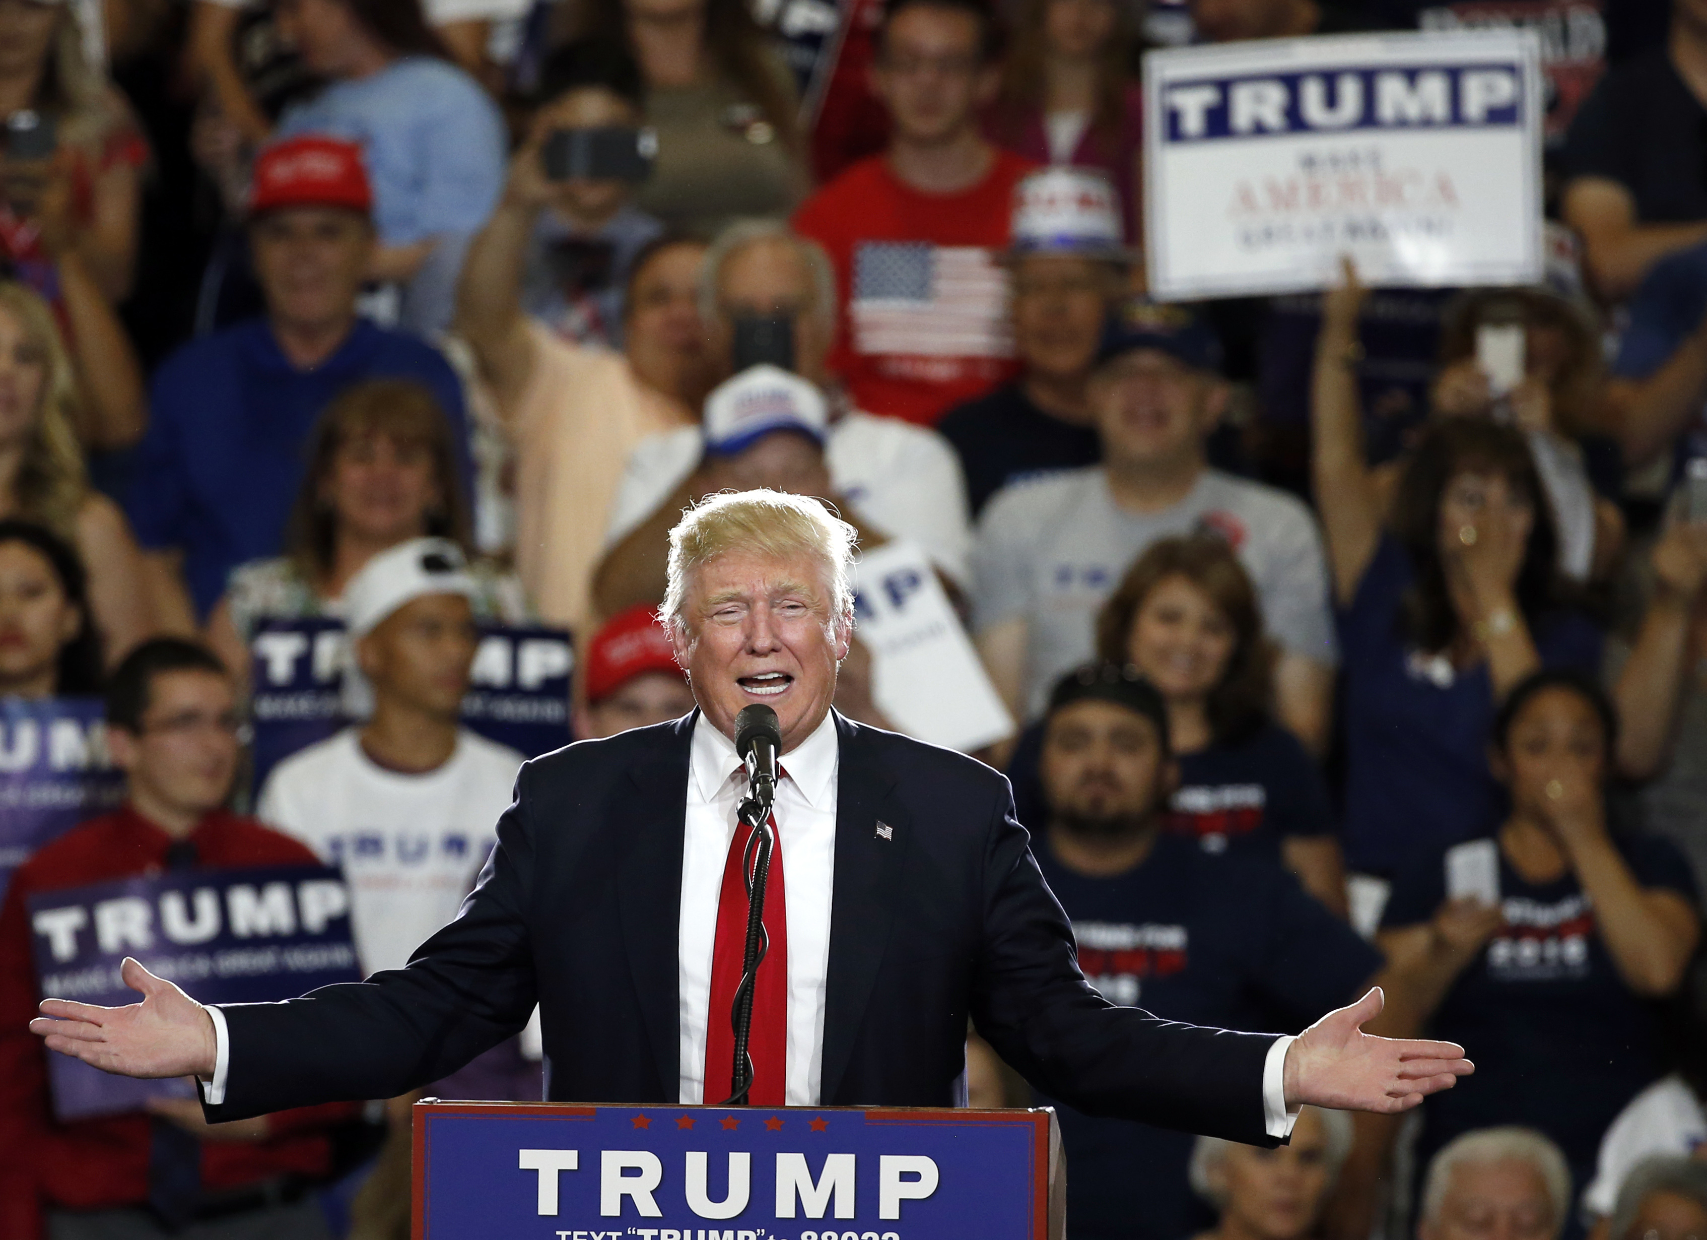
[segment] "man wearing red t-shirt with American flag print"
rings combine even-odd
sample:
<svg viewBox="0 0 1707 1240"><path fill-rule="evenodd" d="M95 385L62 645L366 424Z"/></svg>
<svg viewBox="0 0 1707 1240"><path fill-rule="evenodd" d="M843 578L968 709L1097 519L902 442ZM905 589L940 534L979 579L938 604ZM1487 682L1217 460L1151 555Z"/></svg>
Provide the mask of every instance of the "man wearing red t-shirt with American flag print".
<svg viewBox="0 0 1707 1240"><path fill-rule="evenodd" d="M932 424L1014 374L997 254L1014 186L1033 166L980 132L997 89L993 53L993 17L980 0L893 0L871 72L889 149L794 217L836 266L831 367L871 413Z"/></svg>

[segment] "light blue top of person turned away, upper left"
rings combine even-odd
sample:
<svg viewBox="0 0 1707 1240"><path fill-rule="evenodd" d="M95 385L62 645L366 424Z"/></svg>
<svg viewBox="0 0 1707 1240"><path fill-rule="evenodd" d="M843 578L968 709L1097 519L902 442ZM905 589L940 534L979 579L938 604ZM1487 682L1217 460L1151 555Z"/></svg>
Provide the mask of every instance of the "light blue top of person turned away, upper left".
<svg viewBox="0 0 1707 1240"><path fill-rule="evenodd" d="M299 133L362 145L387 246L475 232L504 190L504 118L475 79L432 56L405 56L292 104L278 137Z"/></svg>

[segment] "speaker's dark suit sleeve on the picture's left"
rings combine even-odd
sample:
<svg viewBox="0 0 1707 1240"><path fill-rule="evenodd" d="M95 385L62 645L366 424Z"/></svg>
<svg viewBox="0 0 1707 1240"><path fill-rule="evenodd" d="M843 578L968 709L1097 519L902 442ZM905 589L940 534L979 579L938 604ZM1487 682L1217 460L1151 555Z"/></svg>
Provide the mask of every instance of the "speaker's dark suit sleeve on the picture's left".
<svg viewBox="0 0 1707 1240"><path fill-rule="evenodd" d="M475 892L405 968L283 1003L222 1004L230 1035L225 1102L208 1122L287 1107L391 1098L522 1030L533 1013L527 912L534 873L529 769L498 820Z"/></svg>

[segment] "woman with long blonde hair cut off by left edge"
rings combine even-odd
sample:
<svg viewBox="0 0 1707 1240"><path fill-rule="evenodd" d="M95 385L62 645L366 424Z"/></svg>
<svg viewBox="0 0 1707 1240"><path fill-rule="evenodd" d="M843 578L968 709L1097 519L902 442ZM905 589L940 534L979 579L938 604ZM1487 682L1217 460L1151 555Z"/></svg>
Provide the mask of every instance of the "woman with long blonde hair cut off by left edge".
<svg viewBox="0 0 1707 1240"><path fill-rule="evenodd" d="M46 526L89 569L89 611L109 661L154 629L142 552L125 514L89 487L82 398L48 304L0 282L0 518Z"/></svg>

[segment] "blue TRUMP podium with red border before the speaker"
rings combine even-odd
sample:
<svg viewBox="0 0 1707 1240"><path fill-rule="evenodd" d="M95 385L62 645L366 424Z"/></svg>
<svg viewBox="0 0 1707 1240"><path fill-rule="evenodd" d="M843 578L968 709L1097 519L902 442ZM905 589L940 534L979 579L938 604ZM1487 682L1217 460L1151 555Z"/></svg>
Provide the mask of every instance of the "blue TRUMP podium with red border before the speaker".
<svg viewBox="0 0 1707 1240"><path fill-rule="evenodd" d="M1063 1240L1055 1112L415 1105L413 1240Z"/></svg>

